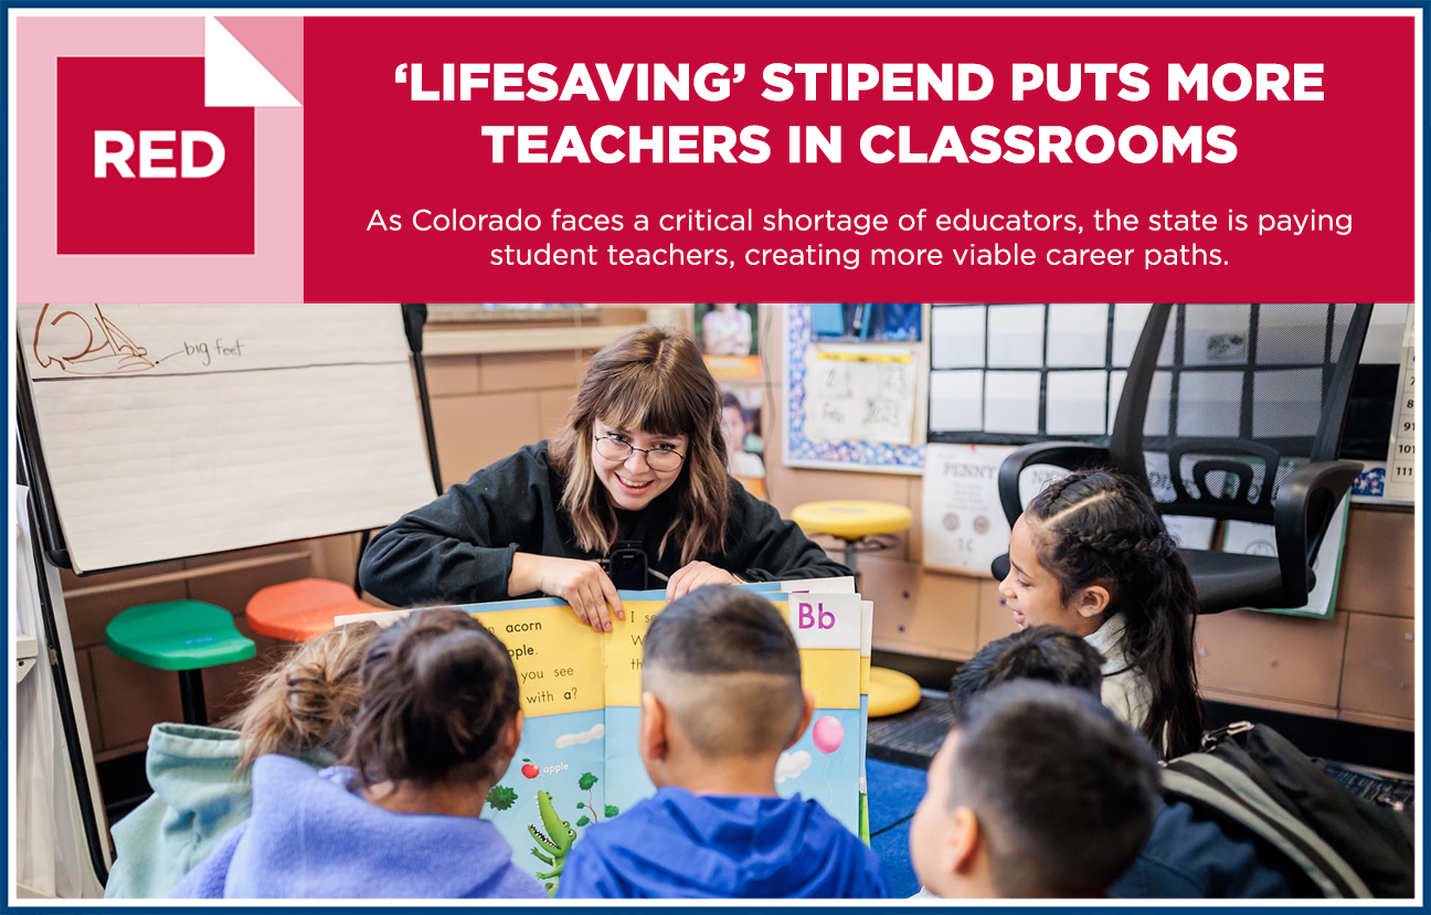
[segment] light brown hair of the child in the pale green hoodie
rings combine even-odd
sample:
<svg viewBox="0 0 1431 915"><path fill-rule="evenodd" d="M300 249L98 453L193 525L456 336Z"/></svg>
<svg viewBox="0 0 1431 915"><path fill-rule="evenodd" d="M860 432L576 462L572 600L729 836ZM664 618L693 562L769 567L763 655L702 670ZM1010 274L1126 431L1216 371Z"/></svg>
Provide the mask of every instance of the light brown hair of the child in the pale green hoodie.
<svg viewBox="0 0 1431 915"><path fill-rule="evenodd" d="M371 622L338 626L296 645L269 668L253 683L248 703L226 722L240 736L238 771L248 772L266 753L341 756L362 699L358 671L378 632Z"/></svg>

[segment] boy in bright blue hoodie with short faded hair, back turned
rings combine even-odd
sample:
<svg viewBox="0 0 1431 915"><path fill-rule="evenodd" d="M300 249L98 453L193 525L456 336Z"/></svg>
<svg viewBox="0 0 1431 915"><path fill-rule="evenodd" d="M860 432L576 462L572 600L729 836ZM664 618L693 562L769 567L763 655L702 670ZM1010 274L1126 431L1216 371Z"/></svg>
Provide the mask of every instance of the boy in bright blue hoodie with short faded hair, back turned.
<svg viewBox="0 0 1431 915"><path fill-rule="evenodd" d="M707 586L651 620L640 752L655 796L590 826L560 898L883 898L879 859L814 801L780 798L776 763L814 698L770 600Z"/></svg>

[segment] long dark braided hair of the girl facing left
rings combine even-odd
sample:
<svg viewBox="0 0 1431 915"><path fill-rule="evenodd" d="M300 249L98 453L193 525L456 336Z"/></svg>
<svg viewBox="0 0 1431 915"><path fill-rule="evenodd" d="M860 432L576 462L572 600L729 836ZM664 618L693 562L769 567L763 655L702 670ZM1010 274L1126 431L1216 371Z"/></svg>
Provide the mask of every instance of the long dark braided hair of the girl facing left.
<svg viewBox="0 0 1431 915"><path fill-rule="evenodd" d="M1152 499L1115 470L1078 470L1039 492L1025 518L1065 600L1095 583L1108 589L1105 616L1123 619L1123 652L1149 686L1143 735L1169 756L1195 751L1202 738L1198 595Z"/></svg>

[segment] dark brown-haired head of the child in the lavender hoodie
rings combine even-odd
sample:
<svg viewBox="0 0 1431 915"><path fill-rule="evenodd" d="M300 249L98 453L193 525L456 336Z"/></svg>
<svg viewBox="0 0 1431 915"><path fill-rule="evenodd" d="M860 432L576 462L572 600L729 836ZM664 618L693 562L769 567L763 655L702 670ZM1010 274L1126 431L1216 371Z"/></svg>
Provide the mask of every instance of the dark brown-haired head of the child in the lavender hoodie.
<svg viewBox="0 0 1431 915"><path fill-rule="evenodd" d="M385 629L362 665L348 759L372 783L431 786L492 775L521 709L507 648L461 610L418 610Z"/></svg>

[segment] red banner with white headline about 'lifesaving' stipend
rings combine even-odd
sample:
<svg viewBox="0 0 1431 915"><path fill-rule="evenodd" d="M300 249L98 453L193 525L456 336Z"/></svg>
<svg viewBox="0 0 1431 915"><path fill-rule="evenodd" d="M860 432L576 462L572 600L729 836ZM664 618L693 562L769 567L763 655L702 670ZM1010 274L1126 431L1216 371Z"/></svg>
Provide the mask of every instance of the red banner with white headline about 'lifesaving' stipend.
<svg viewBox="0 0 1431 915"><path fill-rule="evenodd" d="M311 17L303 40L312 302L1414 299L1411 19Z"/></svg>

